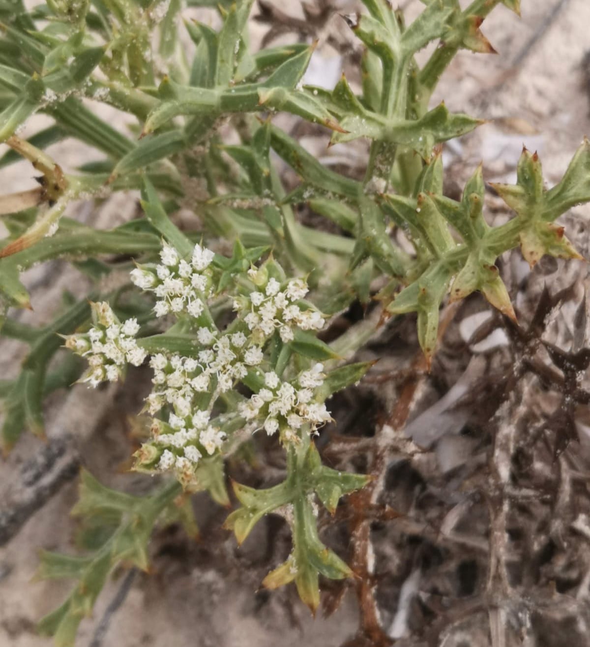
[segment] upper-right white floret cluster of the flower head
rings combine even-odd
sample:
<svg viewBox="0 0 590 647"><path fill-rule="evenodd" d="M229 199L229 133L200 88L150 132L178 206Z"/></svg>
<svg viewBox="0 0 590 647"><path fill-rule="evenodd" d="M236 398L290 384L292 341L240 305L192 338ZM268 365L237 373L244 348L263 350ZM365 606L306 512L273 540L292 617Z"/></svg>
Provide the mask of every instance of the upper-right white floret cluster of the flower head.
<svg viewBox="0 0 590 647"><path fill-rule="evenodd" d="M258 270L248 270L248 276L257 280ZM248 297L237 298L234 309L244 316L244 322L251 330L253 339L262 344L275 329L279 329L283 342L293 340L293 328L302 330L321 330L324 318L317 310L302 309L297 302L308 293L303 279L291 279L281 289L279 281L269 278L266 285L258 287Z"/></svg>

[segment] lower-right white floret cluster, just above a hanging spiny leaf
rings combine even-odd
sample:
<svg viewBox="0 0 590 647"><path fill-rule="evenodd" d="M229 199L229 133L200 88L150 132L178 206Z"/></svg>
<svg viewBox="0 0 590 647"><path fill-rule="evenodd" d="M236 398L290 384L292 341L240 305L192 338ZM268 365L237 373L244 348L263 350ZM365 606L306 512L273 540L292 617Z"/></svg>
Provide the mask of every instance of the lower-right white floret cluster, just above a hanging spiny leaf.
<svg viewBox="0 0 590 647"><path fill-rule="evenodd" d="M323 370L322 364L315 364L293 383L282 382L274 372L266 373L264 388L240 404L240 415L248 421L262 422L268 435L279 431L287 442L297 442L304 427L309 433L317 432L319 426L331 420L326 404L313 402L315 389L326 377Z"/></svg>

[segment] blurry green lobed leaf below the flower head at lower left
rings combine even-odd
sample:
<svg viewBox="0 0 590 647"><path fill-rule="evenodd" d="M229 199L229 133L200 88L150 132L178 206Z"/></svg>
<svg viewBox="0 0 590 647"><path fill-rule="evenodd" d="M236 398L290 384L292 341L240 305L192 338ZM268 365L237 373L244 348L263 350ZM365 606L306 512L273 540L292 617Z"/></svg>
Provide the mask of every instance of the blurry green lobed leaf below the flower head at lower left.
<svg viewBox="0 0 590 647"><path fill-rule="evenodd" d="M84 556L41 554L39 579L75 580L76 586L65 602L39 622L39 632L54 637L57 647L73 647L79 623L92 613L94 602L107 578L119 565L149 567L148 543L154 524L163 515L180 521L196 534L192 510L174 499L180 485L172 483L149 496L131 496L111 490L89 472L82 472L78 503L72 514L83 520L79 533Z"/></svg>

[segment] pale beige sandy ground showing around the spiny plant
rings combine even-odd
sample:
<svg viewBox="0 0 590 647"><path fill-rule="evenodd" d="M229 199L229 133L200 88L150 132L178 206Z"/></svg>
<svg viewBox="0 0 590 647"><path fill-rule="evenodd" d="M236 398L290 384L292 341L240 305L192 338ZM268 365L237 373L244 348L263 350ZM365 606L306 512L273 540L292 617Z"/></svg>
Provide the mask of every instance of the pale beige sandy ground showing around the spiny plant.
<svg viewBox="0 0 590 647"><path fill-rule="evenodd" d="M421 6L412 4L410 10ZM451 110L492 120L447 150L448 164L457 164L459 158L469 162L459 165L459 176L468 175L479 159L483 159L488 181L512 179L524 143L538 149L545 177L553 184L560 179L582 136L590 135L590 89L584 84L582 65L585 52L590 49L587 0L565 3L551 27L529 50L518 71L511 67L555 4L556 0L523 0L521 20L504 8L496 10L483 30L500 56L462 52L441 83L435 104L444 98ZM85 159L85 154L84 148L72 142L52 147L54 158L69 168L79 159ZM30 182L26 166L2 171L3 186L12 188L21 182L23 185ZM92 219L99 226L111 226L131 216L130 203L132 206L131 201L121 197L92 214L77 206L74 214L82 220ZM574 214L585 221L590 211L576 208ZM26 316L30 322L46 321L56 307L56 295L66 286L72 289L73 285L74 291L83 293L83 285L77 284L78 275L72 270L65 270L61 264L54 264L50 270L47 274L48 266L43 266L31 270L26 277L35 305L34 313ZM16 372L22 352L19 344L1 342L0 368L5 375ZM129 451L125 415L136 410L137 404L138 397L130 395L126 388L121 394L121 389L90 392L78 387L50 402L48 436L52 439L71 435L82 463L96 476L106 483L129 484L136 477L121 477L118 469ZM8 457L1 468L0 505L8 506L14 500L19 483L25 479L26 470L30 470L30 461L41 450L42 443L25 435ZM49 644L47 639L36 636L34 624L61 602L68 583L32 583L30 579L40 547L70 550L73 525L68 520L68 511L75 499L76 484L69 479L0 550L1 647ZM200 509L207 510L207 505L202 503ZM215 517L215 513L207 514ZM261 549L256 542L247 543L240 553L227 534L218 543L216 556L222 557L219 560L212 560L211 553L192 545L187 545L186 558L156 555L153 573L135 576L125 602L112 617L107 633L100 637L97 628L105 609L120 590L124 576L105 587L94 617L83 622L77 644L84 647L341 644L355 630L357 612L353 600L347 600L327 620L321 617L311 620L299 605L295 606L293 617L288 617L273 597L266 600L260 594L254 595L257 582L264 576L264 571L252 567L256 552Z"/></svg>

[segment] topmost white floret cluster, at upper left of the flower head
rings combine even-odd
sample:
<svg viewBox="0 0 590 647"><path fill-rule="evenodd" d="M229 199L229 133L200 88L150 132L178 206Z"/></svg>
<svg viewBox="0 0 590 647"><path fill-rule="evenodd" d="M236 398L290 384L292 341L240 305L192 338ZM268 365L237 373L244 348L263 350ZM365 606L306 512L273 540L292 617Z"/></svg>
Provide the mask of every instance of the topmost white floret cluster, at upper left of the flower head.
<svg viewBox="0 0 590 647"><path fill-rule="evenodd" d="M178 256L170 245L160 252L162 263L155 267L137 267L131 272L135 285L158 298L154 307L156 316L188 313L198 318L203 312L206 299L211 294L211 270L213 252L195 245L191 262Z"/></svg>

